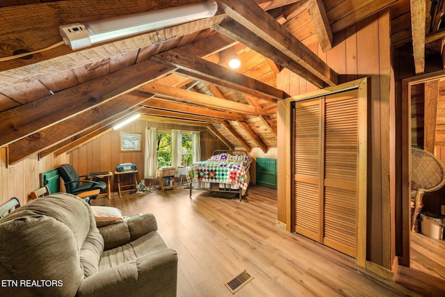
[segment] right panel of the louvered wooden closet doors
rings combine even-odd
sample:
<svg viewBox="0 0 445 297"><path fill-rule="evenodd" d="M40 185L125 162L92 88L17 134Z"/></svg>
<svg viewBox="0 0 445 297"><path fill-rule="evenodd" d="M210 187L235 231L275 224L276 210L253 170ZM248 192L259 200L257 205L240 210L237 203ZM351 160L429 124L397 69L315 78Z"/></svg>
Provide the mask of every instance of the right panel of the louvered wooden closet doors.
<svg viewBox="0 0 445 297"><path fill-rule="evenodd" d="M357 257L358 101L325 99L323 244Z"/></svg>

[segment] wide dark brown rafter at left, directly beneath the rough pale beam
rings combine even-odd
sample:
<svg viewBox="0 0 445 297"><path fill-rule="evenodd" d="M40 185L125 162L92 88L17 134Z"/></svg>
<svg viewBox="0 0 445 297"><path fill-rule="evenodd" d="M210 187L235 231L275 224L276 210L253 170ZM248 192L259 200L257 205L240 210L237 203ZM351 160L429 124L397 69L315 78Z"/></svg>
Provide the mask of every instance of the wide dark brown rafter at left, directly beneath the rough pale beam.
<svg viewBox="0 0 445 297"><path fill-rule="evenodd" d="M148 60L3 111L0 113L0 118L4 119L0 122L0 146L56 125L174 70L172 66Z"/></svg>

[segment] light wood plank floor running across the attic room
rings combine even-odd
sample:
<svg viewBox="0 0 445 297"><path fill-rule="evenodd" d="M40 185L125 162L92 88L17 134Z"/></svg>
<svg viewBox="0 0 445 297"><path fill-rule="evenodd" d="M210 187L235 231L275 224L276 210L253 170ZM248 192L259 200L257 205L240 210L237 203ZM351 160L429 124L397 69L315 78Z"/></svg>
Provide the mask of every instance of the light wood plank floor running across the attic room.
<svg viewBox="0 0 445 297"><path fill-rule="evenodd" d="M275 225L276 191L251 185L248 193L248 202L208 191L193 191L191 200L188 189L175 189L92 204L156 216L159 234L178 252L177 296L445 296L445 282L426 273L402 268L398 283L391 282L282 230ZM232 295L225 282L244 270L254 279Z"/></svg>

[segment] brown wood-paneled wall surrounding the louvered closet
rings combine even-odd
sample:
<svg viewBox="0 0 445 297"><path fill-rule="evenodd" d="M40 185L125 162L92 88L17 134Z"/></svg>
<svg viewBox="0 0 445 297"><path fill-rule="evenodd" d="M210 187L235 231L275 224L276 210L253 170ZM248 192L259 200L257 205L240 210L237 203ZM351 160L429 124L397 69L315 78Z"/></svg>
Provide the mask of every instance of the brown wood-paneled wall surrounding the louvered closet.
<svg viewBox="0 0 445 297"><path fill-rule="evenodd" d="M389 37L390 15L385 10L355 26L334 35L334 47L323 53L318 44L310 48L332 69L339 73L340 82L361 77L371 77L369 106L372 133L369 136L369 193L367 260L391 269L394 260L394 75L391 69L391 45ZM277 79L277 87L290 95L301 95L316 90L312 84L296 74L283 70ZM393 90L391 90L393 89ZM287 112L287 111L284 111ZM279 130L283 130L280 109L277 118ZM277 149L286 150L286 143L278 131ZM392 148L392 150L391 150ZM278 159L278 176L285 174L285 162ZM277 188L277 219L286 222L286 184L279 179ZM393 232L391 233L391 230Z"/></svg>

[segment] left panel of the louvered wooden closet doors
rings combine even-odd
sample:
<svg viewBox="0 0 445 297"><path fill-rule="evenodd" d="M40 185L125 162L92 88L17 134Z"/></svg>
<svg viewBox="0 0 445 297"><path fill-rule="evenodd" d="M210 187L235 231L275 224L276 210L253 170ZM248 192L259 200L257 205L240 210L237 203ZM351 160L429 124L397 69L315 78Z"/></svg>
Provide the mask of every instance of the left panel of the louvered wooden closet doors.
<svg viewBox="0 0 445 297"><path fill-rule="evenodd" d="M320 241L321 100L296 102L294 126L294 230Z"/></svg>

